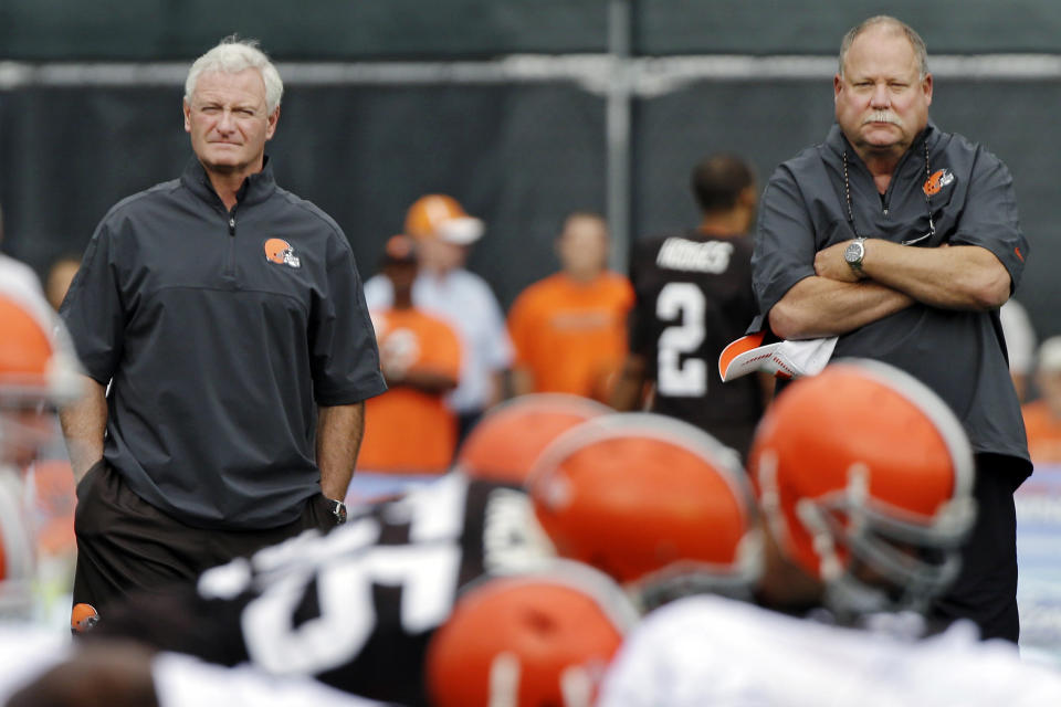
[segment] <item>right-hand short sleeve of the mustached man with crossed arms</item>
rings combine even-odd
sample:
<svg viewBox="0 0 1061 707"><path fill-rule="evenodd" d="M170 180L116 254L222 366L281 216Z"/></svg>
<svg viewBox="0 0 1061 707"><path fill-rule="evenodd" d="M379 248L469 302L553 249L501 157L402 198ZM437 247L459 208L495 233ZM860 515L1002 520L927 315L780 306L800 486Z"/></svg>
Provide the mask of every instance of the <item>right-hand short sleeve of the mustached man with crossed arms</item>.
<svg viewBox="0 0 1061 707"><path fill-rule="evenodd" d="M1017 289L1028 257L1028 241L1020 230L1017 196L1009 169L980 148L973 166L969 191L952 245L979 245L1009 271L1010 293Z"/></svg>

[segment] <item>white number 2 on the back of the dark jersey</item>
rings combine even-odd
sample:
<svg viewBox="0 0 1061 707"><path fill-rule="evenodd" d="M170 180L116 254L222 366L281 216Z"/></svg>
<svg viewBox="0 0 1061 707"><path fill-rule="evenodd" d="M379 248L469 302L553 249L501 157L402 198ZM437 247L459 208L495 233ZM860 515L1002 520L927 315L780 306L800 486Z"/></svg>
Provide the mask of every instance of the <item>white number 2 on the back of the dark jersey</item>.
<svg viewBox="0 0 1061 707"><path fill-rule="evenodd" d="M687 356L704 341L705 310L704 293L692 283L668 283L660 291L655 316L661 321L681 320L660 335L655 381L660 394L693 398L707 393L707 362Z"/></svg>

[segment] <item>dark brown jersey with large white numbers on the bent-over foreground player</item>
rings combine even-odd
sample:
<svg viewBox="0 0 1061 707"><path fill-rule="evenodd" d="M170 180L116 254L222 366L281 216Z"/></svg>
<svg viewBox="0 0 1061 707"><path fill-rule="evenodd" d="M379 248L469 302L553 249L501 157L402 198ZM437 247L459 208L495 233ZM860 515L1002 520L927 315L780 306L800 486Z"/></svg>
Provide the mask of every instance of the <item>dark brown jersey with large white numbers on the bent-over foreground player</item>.
<svg viewBox="0 0 1061 707"><path fill-rule="evenodd" d="M424 652L460 589L549 557L533 516L522 490L450 474L351 509L326 536L311 531L210 570L198 588L134 598L87 636L426 705Z"/></svg>

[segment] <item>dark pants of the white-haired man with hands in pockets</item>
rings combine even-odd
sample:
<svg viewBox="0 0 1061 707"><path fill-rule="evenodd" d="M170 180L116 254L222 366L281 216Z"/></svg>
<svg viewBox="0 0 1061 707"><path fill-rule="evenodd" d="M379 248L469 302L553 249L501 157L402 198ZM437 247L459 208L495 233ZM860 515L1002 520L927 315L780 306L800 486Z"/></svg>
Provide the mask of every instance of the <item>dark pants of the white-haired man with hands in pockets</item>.
<svg viewBox="0 0 1061 707"><path fill-rule="evenodd" d="M156 591L195 580L203 570L251 555L306 528L335 527L327 499L306 502L294 523L264 530L188 526L143 500L108 464L93 466L77 485L74 603L106 605L133 591Z"/></svg>

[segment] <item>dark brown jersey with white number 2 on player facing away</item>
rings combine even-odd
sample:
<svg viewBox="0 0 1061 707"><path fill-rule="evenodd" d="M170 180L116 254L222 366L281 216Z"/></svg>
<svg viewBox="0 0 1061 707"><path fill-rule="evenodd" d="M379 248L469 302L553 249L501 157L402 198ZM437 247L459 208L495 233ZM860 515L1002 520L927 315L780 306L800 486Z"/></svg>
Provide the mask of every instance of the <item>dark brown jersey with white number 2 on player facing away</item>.
<svg viewBox="0 0 1061 707"><path fill-rule="evenodd" d="M752 238L690 231L640 241L631 250L630 279L637 295L630 349L655 382L652 410L746 452L763 393L755 376L723 383L718 355L757 314Z"/></svg>

